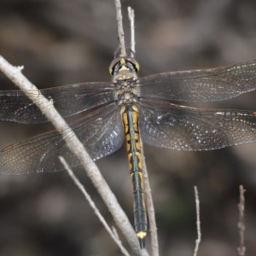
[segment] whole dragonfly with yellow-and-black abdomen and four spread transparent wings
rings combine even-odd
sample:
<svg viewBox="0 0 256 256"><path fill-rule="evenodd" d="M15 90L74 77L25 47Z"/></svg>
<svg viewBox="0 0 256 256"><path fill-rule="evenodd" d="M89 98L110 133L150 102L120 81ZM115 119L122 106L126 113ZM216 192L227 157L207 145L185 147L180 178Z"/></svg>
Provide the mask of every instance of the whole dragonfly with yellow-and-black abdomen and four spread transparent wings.
<svg viewBox="0 0 256 256"><path fill-rule="evenodd" d="M256 90L256 61L225 67L155 73L138 77L133 54L114 57L109 82L68 84L40 90L65 118L93 160L125 142L134 195L134 225L140 246L148 232L143 188L142 145L177 150L213 150L256 142L256 111L189 107L189 102L225 101ZM0 90L0 120L38 124L48 120L20 90ZM68 136L68 132L66 133ZM57 172L58 156L79 160L57 131L49 131L0 152L0 173Z"/></svg>

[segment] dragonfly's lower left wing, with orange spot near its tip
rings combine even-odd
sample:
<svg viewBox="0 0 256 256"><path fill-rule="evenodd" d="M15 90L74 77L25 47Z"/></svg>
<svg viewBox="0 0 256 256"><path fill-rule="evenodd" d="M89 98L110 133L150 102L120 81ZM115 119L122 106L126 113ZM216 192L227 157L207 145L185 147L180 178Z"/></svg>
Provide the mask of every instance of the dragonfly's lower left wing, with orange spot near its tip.
<svg viewBox="0 0 256 256"><path fill-rule="evenodd" d="M71 125L93 160L118 150L124 141L124 129L115 103L96 108ZM67 136L72 136L67 131ZM70 166L79 166L79 160L69 151L61 134L49 131L22 143L3 148L0 153L0 172L24 174L57 172L63 169L58 156Z"/></svg>

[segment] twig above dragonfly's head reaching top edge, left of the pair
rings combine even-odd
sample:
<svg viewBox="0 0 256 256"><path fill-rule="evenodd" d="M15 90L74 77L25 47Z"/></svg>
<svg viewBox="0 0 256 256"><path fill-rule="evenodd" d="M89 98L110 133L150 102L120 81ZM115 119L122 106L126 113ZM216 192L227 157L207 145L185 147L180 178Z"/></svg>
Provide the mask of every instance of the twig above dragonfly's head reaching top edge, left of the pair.
<svg viewBox="0 0 256 256"><path fill-rule="evenodd" d="M114 0L114 3L115 3L115 9L116 9L116 20L117 20L117 24L118 24L120 55L126 56L125 32L124 32L124 26L123 26L121 3L120 3L120 0Z"/></svg>

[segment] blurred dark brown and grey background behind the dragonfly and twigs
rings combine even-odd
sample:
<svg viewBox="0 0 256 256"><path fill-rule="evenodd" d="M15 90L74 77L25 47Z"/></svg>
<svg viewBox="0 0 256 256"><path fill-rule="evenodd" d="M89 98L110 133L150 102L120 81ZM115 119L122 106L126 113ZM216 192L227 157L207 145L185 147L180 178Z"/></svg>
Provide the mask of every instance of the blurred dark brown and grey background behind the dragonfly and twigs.
<svg viewBox="0 0 256 256"><path fill-rule="evenodd" d="M140 75L224 66L256 57L256 2L236 0L122 1L136 15ZM129 38L129 37L128 37ZM113 0L2 0L0 54L39 88L108 81L117 48ZM0 74L0 89L15 86ZM256 93L214 107L255 109ZM1 104L1 102L0 102ZM68 108L68 106L67 106ZM0 146L48 131L44 125L0 123ZM201 200L200 255L237 255L238 186L246 192L247 255L256 255L256 144L212 152L145 145L160 255L192 255L195 197ZM96 162L131 223L131 182L125 148ZM92 184L76 172L113 224ZM150 244L149 238L147 244ZM0 256L120 255L67 172L0 177Z"/></svg>

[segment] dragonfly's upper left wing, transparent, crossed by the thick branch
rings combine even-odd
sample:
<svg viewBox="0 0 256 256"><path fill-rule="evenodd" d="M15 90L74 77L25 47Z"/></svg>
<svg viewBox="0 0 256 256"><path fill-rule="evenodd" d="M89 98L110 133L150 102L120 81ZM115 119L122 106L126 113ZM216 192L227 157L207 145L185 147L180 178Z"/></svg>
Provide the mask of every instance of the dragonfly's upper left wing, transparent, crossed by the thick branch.
<svg viewBox="0 0 256 256"><path fill-rule="evenodd" d="M31 93L38 93L31 91ZM111 83L69 84L40 90L63 117L113 101ZM20 90L0 90L0 120L23 124L47 122L40 109Z"/></svg>

